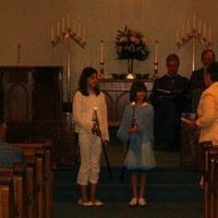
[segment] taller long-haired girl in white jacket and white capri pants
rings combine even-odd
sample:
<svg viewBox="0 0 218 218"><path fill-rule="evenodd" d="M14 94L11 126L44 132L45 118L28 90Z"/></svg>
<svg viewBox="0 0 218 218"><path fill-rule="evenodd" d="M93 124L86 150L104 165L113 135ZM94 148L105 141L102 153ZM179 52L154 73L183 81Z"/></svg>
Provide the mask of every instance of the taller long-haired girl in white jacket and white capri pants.
<svg viewBox="0 0 218 218"><path fill-rule="evenodd" d="M96 134L94 109L97 109L99 131L104 141L109 141L109 134L105 95L98 89L97 83L97 71L93 68L85 68L78 81L78 89L73 98L73 121L78 133L81 154L77 183L81 186L78 204L82 206L102 205L102 202L96 197L100 171L101 141ZM87 196L88 184L90 184L90 197Z"/></svg>

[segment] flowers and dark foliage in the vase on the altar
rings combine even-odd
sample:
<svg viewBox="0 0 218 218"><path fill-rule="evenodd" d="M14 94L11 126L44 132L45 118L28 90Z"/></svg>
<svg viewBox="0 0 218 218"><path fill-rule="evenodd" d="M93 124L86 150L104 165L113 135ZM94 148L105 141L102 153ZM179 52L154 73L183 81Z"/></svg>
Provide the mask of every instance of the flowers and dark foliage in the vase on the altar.
<svg viewBox="0 0 218 218"><path fill-rule="evenodd" d="M118 36L116 37L116 52L119 60L135 59L144 61L149 55L144 35L128 26L125 26L124 31L118 29Z"/></svg>

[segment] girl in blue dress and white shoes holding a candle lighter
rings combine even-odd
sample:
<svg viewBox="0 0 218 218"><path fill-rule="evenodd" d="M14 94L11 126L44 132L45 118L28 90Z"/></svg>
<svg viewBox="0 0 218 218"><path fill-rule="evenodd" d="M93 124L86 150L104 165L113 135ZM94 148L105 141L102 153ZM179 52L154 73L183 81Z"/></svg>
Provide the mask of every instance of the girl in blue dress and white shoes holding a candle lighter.
<svg viewBox="0 0 218 218"><path fill-rule="evenodd" d="M122 122L118 130L118 137L129 143L124 167L131 171L132 198L129 203L131 206L144 206L147 204L144 197L145 172L156 166L153 152L154 110L146 99L147 88L144 83L133 83L130 100L134 101L134 104L125 107Z"/></svg>

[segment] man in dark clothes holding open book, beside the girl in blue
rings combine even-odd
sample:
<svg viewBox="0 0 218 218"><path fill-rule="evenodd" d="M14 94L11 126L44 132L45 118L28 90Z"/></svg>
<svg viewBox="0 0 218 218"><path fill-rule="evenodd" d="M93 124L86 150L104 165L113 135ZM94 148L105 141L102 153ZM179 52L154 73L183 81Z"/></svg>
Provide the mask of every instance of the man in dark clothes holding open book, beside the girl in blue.
<svg viewBox="0 0 218 218"><path fill-rule="evenodd" d="M155 146L178 149L180 117L186 111L189 80L178 74L180 60L174 53L167 57L167 74L155 81L150 101L155 108Z"/></svg>

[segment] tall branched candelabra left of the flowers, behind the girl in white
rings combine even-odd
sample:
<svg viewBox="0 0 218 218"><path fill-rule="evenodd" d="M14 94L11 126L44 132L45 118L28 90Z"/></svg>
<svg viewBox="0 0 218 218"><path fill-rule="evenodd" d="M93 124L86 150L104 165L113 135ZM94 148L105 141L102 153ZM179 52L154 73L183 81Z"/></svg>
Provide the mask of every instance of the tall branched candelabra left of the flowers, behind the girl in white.
<svg viewBox="0 0 218 218"><path fill-rule="evenodd" d="M76 43L81 48L85 49L86 46L86 28L80 22L73 20L73 28L70 24L70 14L68 14L68 27L65 27L65 20L62 20L62 32L60 34L60 23L57 23L56 34L55 28L51 26L51 45L55 47L58 44L66 43L66 98L68 102L71 100L71 41ZM82 33L83 31L83 33Z"/></svg>

